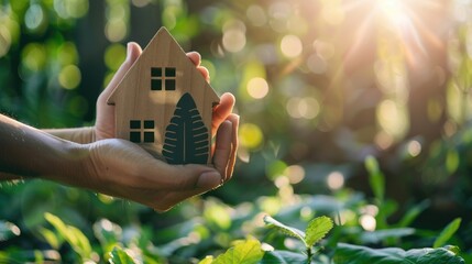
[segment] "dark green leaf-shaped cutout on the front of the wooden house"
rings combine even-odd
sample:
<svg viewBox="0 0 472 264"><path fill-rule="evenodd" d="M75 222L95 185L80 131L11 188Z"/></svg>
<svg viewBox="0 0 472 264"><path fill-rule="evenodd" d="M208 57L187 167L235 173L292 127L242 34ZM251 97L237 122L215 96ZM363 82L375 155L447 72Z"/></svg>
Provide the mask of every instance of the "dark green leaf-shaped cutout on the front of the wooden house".
<svg viewBox="0 0 472 264"><path fill-rule="evenodd" d="M166 128L162 153L169 164L207 164L208 129L188 92L177 102L174 117Z"/></svg>

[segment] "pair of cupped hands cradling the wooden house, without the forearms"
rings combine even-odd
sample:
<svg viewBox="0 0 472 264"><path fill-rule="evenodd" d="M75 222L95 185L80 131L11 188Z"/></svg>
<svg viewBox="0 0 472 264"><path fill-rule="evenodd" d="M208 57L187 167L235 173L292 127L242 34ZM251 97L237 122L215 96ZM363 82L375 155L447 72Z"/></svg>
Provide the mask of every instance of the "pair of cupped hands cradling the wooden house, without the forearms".
<svg viewBox="0 0 472 264"><path fill-rule="evenodd" d="M222 95L212 117L211 135L217 136L211 147L215 167L171 166L130 142L116 140L114 106L107 105L107 99L141 53L138 44L129 44L125 62L97 101L96 142L90 145L94 153L90 167L96 184L90 188L162 211L231 178L238 147L239 117L232 113L234 97L231 94ZM187 56L209 81L208 69L200 66L200 55L193 52Z"/></svg>

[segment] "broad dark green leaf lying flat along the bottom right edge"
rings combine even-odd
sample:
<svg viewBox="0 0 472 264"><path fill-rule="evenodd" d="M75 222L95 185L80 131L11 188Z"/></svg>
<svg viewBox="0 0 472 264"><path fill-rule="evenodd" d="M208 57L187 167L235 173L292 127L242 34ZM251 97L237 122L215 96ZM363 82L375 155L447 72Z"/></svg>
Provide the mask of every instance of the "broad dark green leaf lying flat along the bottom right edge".
<svg viewBox="0 0 472 264"><path fill-rule="evenodd" d="M464 264L464 260L452 251L439 249L415 249L404 251L397 248L370 249L340 243L334 252L334 263L359 264Z"/></svg>

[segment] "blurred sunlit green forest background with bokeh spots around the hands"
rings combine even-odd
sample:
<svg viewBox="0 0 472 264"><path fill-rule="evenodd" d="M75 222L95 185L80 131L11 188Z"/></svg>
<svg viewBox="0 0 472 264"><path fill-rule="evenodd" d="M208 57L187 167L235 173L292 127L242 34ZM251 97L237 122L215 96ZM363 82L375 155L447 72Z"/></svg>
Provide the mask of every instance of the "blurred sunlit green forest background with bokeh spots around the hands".
<svg viewBox="0 0 472 264"><path fill-rule="evenodd" d="M319 262L338 242L432 246L457 218L451 243L470 260L470 1L3 0L0 111L37 128L91 125L125 43L144 47L162 25L237 97L234 179L166 213L3 183L0 257L103 262L120 244L144 262L186 263L248 235L296 251L263 216L303 228L326 215L337 228ZM90 250L61 237L54 216Z"/></svg>

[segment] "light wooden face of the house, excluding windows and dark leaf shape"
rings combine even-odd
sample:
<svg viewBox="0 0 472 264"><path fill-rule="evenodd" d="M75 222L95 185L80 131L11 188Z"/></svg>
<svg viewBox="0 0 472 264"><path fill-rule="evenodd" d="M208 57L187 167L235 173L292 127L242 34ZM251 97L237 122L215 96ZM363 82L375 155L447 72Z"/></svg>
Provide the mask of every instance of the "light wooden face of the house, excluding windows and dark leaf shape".
<svg viewBox="0 0 472 264"><path fill-rule="evenodd" d="M151 79L158 79L152 77L152 68L162 68L162 75L165 75L165 68L175 68L175 77L169 78L175 79L175 90L152 90ZM154 143L140 145L161 155L166 127L177 102L187 92L191 95L205 127L211 131L212 107L219 103L219 97L168 31L161 28L108 98L107 103L114 105L116 136L130 140L130 132L136 131L130 129L130 120L141 120L141 123L153 120ZM208 136L210 144L211 133ZM211 155L208 155L207 164L210 163Z"/></svg>

